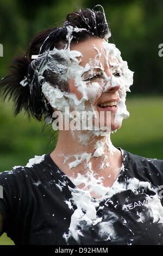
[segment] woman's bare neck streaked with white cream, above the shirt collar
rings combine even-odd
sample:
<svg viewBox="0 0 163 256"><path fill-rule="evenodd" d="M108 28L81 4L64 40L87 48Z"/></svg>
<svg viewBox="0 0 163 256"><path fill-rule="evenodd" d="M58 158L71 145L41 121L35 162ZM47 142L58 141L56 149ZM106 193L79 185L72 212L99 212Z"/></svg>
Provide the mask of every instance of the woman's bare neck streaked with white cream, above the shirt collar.
<svg viewBox="0 0 163 256"><path fill-rule="evenodd" d="M59 131L57 146L51 153L53 161L65 174L97 172L115 167L121 152L111 143L110 134L95 136L88 131ZM120 164L119 164L120 165Z"/></svg>

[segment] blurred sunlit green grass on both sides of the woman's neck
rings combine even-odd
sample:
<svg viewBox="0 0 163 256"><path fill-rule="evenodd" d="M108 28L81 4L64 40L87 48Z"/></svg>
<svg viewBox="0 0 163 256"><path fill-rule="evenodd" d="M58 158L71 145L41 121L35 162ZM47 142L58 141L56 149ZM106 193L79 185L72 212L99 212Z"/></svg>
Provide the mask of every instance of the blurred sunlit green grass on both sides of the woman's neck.
<svg viewBox="0 0 163 256"><path fill-rule="evenodd" d="M42 124L30 122L20 114L13 118L12 105L0 102L0 170L24 165L34 155L49 153L54 145L42 135ZM123 121L120 130L111 135L113 144L133 154L163 159L163 97L130 97L127 99L130 117ZM45 130L46 131L46 130ZM13 244L4 234L0 245Z"/></svg>

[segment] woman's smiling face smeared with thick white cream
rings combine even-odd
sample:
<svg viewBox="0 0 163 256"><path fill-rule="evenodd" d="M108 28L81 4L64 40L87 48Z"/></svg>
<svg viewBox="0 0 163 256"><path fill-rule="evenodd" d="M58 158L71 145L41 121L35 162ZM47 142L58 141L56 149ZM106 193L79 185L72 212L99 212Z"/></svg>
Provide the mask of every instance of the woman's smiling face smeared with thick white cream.
<svg viewBox="0 0 163 256"><path fill-rule="evenodd" d="M127 62L122 60L121 52L114 44L90 38L61 50L54 48L44 55L48 58L39 70L39 81L42 81L45 70L54 72L59 78L55 86L46 80L42 82L42 92L53 109L65 115L65 107L68 107L79 112L77 120L80 121L85 120L83 112L91 112L95 127L90 129L90 125L86 125L84 130L95 131L93 134L97 136L103 131L103 125L109 126L111 131L121 127L122 120L129 117L125 101L126 93L133 84L133 72L128 69ZM61 90L62 83L67 83L68 92ZM98 115L96 117L97 113L100 119ZM110 116L111 124L108 124L106 116ZM74 117L70 115L70 119ZM99 132L96 132L96 127L99 127Z"/></svg>

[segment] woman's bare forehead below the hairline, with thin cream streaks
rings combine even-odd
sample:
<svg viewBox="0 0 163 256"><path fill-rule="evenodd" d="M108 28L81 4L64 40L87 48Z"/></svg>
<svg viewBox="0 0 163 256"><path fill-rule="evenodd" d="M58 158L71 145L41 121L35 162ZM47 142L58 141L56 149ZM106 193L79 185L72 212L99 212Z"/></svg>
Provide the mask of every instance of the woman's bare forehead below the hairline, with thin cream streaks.
<svg viewBox="0 0 163 256"><path fill-rule="evenodd" d="M101 38L90 38L70 47L70 50L79 51L82 53L80 65L85 66L90 63L90 60L96 59L101 62L103 68L105 66L105 49L103 45L104 40ZM109 59L108 59L109 60Z"/></svg>

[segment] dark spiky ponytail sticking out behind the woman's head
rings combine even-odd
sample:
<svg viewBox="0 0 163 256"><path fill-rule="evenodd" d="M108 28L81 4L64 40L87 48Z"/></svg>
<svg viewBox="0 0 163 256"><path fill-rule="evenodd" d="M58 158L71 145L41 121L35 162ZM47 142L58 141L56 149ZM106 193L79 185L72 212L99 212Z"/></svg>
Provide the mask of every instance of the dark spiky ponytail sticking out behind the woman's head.
<svg viewBox="0 0 163 256"><path fill-rule="evenodd" d="M40 97L37 91L34 91L32 95L29 84L22 86L21 82L26 77L28 81L28 69L32 62L31 57L33 54L39 54L41 45L54 29L49 28L36 35L30 43L27 53L12 59L12 64L9 66L10 74L0 80L0 90L3 89L3 100L7 97L8 101L12 99L15 116L24 109L29 118L33 116L41 121L42 114L47 112L44 102L46 99ZM51 106L48 105L48 108L48 111L52 113Z"/></svg>

